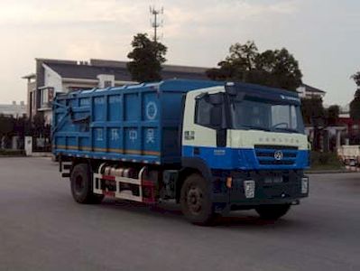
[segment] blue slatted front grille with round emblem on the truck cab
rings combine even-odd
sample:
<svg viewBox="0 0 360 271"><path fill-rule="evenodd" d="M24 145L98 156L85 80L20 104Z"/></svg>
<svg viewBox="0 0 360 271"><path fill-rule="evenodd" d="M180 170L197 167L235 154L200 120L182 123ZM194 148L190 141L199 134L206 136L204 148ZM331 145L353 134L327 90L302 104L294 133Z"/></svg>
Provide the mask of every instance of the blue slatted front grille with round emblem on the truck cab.
<svg viewBox="0 0 360 271"><path fill-rule="evenodd" d="M298 147L286 145L255 145L255 154L259 164L263 165L292 165L298 156ZM282 159L275 159L275 153L281 151Z"/></svg>

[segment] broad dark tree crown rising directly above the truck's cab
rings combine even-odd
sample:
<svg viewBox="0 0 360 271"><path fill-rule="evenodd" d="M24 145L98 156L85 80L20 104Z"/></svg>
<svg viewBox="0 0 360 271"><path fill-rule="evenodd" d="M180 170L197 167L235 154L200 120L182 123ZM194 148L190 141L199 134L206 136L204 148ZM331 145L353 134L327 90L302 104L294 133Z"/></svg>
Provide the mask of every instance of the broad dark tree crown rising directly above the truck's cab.
<svg viewBox="0 0 360 271"><path fill-rule="evenodd" d="M296 90L301 84L299 62L285 48L259 52L254 42L231 45L219 68L207 71L215 80L239 80L274 88Z"/></svg>

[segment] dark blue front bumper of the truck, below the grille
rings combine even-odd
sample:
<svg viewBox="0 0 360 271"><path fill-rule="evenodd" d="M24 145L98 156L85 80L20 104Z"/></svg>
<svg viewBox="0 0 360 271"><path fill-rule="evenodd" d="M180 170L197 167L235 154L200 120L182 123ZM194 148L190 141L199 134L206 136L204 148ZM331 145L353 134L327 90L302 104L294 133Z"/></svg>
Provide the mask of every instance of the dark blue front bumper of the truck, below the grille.
<svg viewBox="0 0 360 271"><path fill-rule="evenodd" d="M224 175L224 173L223 173ZM222 178L213 185L213 201L218 209L253 209L264 204L294 204L309 196L309 182L304 192L307 177L302 171L231 172L231 187L226 187ZM282 178L279 179L279 176ZM246 198L244 183L253 180L254 197ZM309 179L308 179L309 180Z"/></svg>

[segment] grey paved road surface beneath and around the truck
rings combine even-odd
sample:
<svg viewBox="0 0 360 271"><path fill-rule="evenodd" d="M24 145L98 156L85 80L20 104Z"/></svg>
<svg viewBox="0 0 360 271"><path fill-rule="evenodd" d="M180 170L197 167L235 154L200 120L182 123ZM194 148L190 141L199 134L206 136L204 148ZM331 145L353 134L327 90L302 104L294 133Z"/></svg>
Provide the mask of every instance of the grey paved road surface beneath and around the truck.
<svg viewBox="0 0 360 271"><path fill-rule="evenodd" d="M0 158L0 270L360 270L360 174L312 175L275 224L253 211L217 227L172 206L72 201L44 158Z"/></svg>

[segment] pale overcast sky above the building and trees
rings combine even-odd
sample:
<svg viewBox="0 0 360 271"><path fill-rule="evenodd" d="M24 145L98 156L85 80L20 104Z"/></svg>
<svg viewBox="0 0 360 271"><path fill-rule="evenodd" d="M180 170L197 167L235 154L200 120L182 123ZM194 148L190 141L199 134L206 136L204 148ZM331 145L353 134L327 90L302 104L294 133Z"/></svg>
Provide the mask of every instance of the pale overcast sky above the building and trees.
<svg viewBox="0 0 360 271"><path fill-rule="evenodd" d="M149 5L164 6L169 64L216 66L230 44L286 47L303 81L345 105L360 70L356 0L0 0L0 103L26 100L35 58L126 61L135 33L151 33Z"/></svg>

